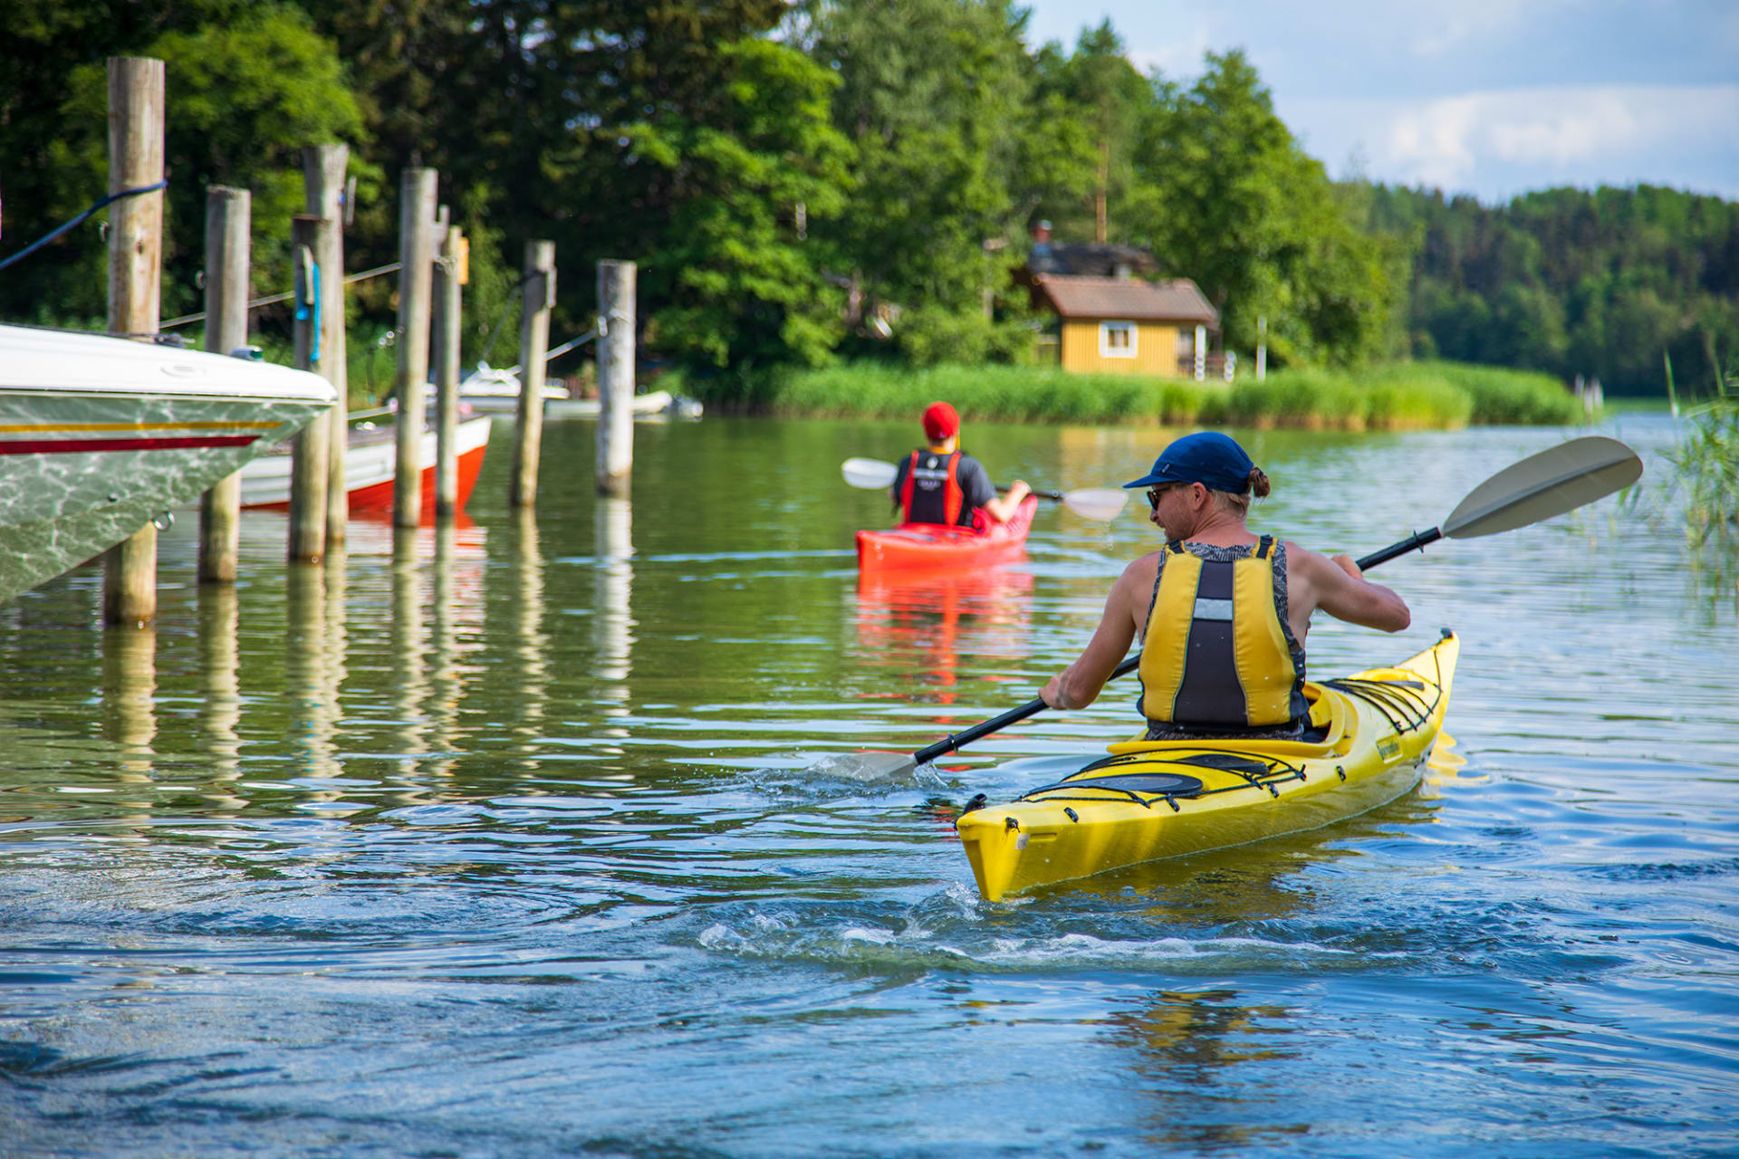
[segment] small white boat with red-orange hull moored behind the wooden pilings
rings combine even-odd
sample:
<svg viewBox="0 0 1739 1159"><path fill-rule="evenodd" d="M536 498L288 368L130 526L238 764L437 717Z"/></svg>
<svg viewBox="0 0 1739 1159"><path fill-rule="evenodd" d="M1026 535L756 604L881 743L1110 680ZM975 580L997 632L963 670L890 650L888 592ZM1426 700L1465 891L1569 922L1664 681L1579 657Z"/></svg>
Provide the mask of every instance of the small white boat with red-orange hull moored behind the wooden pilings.
<svg viewBox="0 0 1739 1159"><path fill-rule="evenodd" d="M393 509L393 478L398 473L396 427L388 412L383 421L363 419L350 429L350 445L344 448L344 488L350 495L351 514ZM489 427L492 419L480 415L466 419L454 433L459 452L459 507L471 497L476 487L476 473L483 469L483 452L489 448ZM435 431L423 431L419 450L423 459L423 511L435 513ZM290 455L289 448L278 454L261 455L242 467L242 506L287 511L290 506Z"/></svg>

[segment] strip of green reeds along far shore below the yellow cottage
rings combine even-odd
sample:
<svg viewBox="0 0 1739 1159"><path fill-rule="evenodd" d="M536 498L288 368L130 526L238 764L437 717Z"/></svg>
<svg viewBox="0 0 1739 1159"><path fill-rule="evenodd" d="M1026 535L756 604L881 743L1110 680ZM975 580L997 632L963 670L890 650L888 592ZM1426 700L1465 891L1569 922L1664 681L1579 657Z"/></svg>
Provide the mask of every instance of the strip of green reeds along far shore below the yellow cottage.
<svg viewBox="0 0 1739 1159"><path fill-rule="evenodd" d="M1421 431L1464 426L1584 422L1582 403L1546 374L1452 361L1363 370L1276 370L1233 382L1066 374L1054 367L909 368L857 361L706 381L682 389L725 414L810 419L909 419L946 398L969 421L1149 422L1334 431Z"/></svg>

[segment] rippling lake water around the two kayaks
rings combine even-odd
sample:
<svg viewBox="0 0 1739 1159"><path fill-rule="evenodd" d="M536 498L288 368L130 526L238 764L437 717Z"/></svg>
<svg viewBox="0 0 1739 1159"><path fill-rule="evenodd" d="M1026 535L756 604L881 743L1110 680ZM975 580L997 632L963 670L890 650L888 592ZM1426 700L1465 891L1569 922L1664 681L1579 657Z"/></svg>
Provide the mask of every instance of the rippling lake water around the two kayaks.
<svg viewBox="0 0 1739 1159"><path fill-rule="evenodd" d="M1023 563L861 586L915 424L497 426L475 523L353 525L155 632L82 570L0 608L5 1156L1716 1156L1739 1150L1734 554L1640 500L1384 565L1462 636L1426 784L1316 832L983 904L951 818L1134 730L1113 686L903 784L816 775L1029 699L1155 537L1042 511ZM1581 431L1245 433L1256 523L1374 551ZM996 476L1155 429L969 427Z"/></svg>

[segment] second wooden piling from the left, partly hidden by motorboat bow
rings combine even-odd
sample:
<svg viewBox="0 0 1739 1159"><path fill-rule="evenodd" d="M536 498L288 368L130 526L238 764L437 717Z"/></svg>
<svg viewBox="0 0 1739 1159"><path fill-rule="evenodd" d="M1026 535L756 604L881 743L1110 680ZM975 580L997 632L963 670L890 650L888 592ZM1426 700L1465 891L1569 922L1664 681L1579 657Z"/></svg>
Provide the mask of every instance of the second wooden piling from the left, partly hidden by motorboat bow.
<svg viewBox="0 0 1739 1159"><path fill-rule="evenodd" d="M231 354L247 346L252 195L205 191L205 349ZM200 582L233 584L242 542L242 474L200 497Z"/></svg>

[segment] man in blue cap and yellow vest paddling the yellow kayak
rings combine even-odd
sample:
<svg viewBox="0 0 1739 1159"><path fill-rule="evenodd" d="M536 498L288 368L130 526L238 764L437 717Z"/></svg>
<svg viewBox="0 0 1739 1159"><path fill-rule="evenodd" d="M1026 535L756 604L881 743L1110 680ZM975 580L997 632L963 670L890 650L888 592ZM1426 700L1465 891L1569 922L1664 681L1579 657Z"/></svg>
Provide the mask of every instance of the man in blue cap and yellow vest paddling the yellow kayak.
<svg viewBox="0 0 1739 1159"><path fill-rule="evenodd" d="M1398 632L1412 615L1349 556L1322 556L1245 527L1268 476L1217 431L1170 443L1146 487L1165 547L1111 587L1092 643L1038 693L1083 709L1141 638L1141 714L1149 740L1289 737L1304 732L1304 636L1316 608Z"/></svg>

